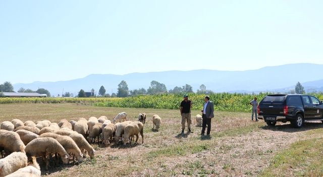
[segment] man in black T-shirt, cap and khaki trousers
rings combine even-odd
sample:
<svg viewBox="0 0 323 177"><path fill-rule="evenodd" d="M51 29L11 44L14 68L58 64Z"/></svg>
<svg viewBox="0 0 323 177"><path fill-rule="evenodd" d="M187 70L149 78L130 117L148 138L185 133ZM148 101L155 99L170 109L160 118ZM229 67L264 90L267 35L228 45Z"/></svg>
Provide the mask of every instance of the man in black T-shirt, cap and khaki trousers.
<svg viewBox="0 0 323 177"><path fill-rule="evenodd" d="M187 122L188 132L191 132L191 109L192 102L188 100L188 95L184 95L184 100L181 102L181 115L182 115L182 134L184 134L185 121Z"/></svg>

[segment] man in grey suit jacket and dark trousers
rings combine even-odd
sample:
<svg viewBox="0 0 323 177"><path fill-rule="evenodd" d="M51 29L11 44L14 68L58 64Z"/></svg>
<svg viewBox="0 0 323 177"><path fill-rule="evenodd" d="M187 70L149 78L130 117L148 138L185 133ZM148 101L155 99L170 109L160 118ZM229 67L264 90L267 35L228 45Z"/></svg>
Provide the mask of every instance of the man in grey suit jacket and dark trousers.
<svg viewBox="0 0 323 177"><path fill-rule="evenodd" d="M207 125L206 135L210 136L211 119L214 117L214 104L213 102L210 101L210 98L208 96L205 96L204 101L205 101L204 107L203 107L203 110L201 110L201 112L203 113L201 136L204 136L206 125Z"/></svg>

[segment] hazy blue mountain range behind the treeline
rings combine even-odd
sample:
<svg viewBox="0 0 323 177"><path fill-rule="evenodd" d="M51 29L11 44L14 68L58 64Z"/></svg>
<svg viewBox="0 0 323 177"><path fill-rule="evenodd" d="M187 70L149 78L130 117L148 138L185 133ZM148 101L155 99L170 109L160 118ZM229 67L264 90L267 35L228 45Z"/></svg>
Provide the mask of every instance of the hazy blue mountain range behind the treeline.
<svg viewBox="0 0 323 177"><path fill-rule="evenodd" d="M319 64L288 64L280 66L264 67L256 70L246 71L218 71L218 70L192 70L192 71L164 71L147 73L130 73L125 75L114 74L91 74L84 78L56 82L32 82L16 83L15 91L20 87L37 90L47 89L51 95L70 92L77 94L81 89L90 91L92 88L98 92L101 85L105 87L106 93L117 92L121 80L128 83L129 89L147 89L151 80L165 83L167 89L175 86L190 84L193 90L199 89L201 84L206 89L214 92L266 92L281 90L295 85L297 81L306 87L323 86L323 65ZM322 88L321 88L322 89Z"/></svg>

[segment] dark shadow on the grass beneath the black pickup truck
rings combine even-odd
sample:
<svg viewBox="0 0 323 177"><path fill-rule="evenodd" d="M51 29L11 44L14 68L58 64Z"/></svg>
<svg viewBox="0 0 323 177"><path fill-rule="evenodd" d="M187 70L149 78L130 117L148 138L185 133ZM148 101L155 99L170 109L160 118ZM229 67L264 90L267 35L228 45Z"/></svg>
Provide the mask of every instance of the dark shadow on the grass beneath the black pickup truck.
<svg viewBox="0 0 323 177"><path fill-rule="evenodd" d="M283 124L283 125L275 125L275 126L264 125L264 126L260 126L259 128L262 128L265 130L272 130L272 131L300 132L300 131L307 131L311 129L323 128L323 124L321 122L305 122L301 128L294 128L291 126L291 124Z"/></svg>

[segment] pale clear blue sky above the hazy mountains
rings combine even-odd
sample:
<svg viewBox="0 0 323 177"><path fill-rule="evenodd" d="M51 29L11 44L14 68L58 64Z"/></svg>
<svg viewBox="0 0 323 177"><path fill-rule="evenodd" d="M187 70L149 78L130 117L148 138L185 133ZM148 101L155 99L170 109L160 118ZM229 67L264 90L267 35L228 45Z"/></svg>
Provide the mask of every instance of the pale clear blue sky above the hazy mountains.
<svg viewBox="0 0 323 177"><path fill-rule="evenodd" d="M323 1L0 1L0 83L323 64Z"/></svg>

